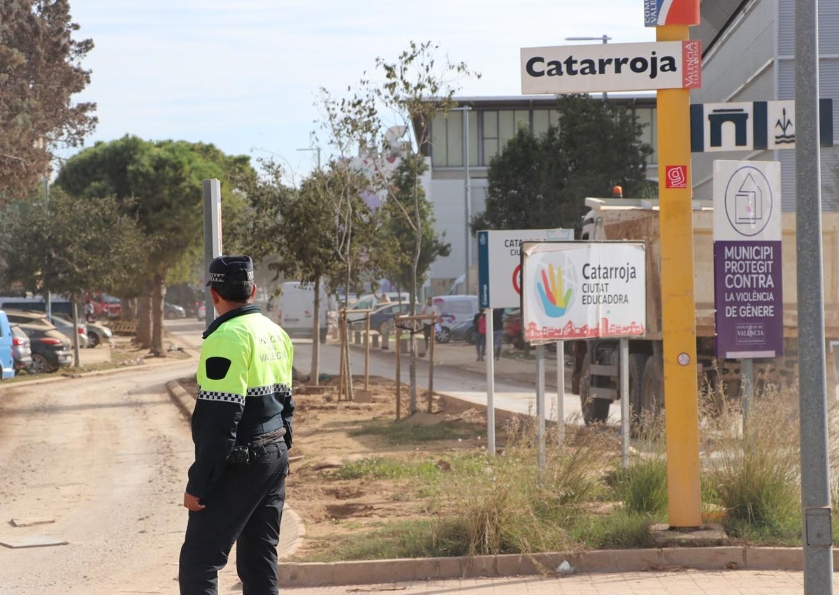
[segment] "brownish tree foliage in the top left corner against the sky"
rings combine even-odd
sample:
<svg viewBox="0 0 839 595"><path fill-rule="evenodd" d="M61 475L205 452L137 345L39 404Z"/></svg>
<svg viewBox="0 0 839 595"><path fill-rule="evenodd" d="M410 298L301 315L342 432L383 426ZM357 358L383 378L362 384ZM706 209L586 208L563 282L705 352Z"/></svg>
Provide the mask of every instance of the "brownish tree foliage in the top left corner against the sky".
<svg viewBox="0 0 839 595"><path fill-rule="evenodd" d="M50 170L52 150L76 147L96 126L95 103L70 101L90 83L68 0L0 3L0 201L28 196Z"/></svg>

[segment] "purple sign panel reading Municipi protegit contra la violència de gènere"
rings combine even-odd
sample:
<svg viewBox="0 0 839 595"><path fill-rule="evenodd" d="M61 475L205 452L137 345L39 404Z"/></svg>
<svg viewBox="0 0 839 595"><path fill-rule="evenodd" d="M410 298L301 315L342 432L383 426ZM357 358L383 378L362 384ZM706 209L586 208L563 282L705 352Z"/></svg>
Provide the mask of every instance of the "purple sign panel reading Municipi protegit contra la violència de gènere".
<svg viewBox="0 0 839 595"><path fill-rule="evenodd" d="M717 358L784 355L781 243L714 242Z"/></svg>

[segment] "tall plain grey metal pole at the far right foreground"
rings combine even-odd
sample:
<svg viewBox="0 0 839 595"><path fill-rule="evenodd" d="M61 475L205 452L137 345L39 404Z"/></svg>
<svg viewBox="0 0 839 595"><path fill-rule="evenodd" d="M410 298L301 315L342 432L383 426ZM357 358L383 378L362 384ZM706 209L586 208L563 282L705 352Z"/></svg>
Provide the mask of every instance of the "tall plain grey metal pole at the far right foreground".
<svg viewBox="0 0 839 595"><path fill-rule="evenodd" d="M821 253L817 0L795 0L795 243L804 592L833 592Z"/></svg>

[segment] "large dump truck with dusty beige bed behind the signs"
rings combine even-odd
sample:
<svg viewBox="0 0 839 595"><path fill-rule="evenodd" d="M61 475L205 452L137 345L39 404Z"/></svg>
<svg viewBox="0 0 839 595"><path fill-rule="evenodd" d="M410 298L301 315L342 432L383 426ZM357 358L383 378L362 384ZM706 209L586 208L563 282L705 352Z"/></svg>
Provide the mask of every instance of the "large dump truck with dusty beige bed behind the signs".
<svg viewBox="0 0 839 595"><path fill-rule="evenodd" d="M582 240L644 242L647 258L647 324L643 336L629 339L629 402L633 415L664 404L664 364L661 325L661 264L659 205L656 200L586 198ZM713 206L693 201L694 294L696 296L697 394L721 407L740 398L741 360L717 360L714 308ZM784 300L784 355L753 359L755 391L768 384L789 386L798 378L798 310L796 280L795 213L782 214ZM832 348L839 345L839 212L822 213L822 250L825 305L826 368L828 387L836 386ZM586 423L607 420L609 407L621 398L619 340L577 341L572 390L580 394Z"/></svg>

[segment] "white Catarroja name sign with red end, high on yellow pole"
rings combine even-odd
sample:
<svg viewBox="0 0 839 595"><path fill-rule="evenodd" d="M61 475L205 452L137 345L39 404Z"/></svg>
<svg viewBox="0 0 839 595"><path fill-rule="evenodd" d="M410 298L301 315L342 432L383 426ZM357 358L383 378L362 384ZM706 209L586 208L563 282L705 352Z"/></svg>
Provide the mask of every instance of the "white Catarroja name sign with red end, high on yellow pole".
<svg viewBox="0 0 839 595"><path fill-rule="evenodd" d="M701 86L699 41L522 48L522 93L646 91Z"/></svg>

